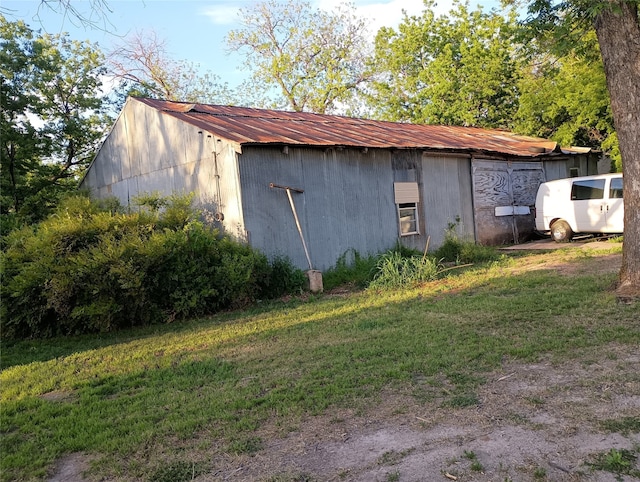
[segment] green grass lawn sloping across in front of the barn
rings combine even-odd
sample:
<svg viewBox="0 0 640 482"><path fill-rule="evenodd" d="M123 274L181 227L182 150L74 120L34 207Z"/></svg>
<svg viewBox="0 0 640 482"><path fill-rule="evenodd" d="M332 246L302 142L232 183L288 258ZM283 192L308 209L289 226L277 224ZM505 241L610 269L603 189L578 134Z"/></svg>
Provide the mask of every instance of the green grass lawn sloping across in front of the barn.
<svg viewBox="0 0 640 482"><path fill-rule="evenodd" d="M44 478L76 452L92 455L100 476L187 478L208 463L203 440L253 454L267 423L285 430L330 409L364 409L385 388L420 396L420 386L441 387L443 404L463 407L505 359L640 343L637 307L610 291L615 275L569 283L554 271L506 276L504 263L412 289L4 343L1 478Z"/></svg>

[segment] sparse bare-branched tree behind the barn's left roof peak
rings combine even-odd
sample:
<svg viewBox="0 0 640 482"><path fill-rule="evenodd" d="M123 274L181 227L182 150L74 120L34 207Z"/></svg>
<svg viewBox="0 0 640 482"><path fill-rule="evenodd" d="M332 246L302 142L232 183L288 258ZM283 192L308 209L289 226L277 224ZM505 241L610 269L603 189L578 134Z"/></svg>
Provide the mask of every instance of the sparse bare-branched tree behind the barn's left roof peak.
<svg viewBox="0 0 640 482"><path fill-rule="evenodd" d="M108 64L133 95L203 104L234 103L232 91L217 75L201 74L197 65L173 59L166 42L154 31L128 36L109 54Z"/></svg>

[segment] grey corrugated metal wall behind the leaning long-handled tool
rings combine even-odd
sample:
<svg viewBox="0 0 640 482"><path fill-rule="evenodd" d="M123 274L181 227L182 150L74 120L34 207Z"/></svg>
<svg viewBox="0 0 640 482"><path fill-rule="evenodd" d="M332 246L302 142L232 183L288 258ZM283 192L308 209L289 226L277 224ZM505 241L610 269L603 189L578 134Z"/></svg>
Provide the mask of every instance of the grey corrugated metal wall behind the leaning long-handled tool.
<svg viewBox="0 0 640 482"><path fill-rule="evenodd" d="M355 149L243 149L242 202L251 244L307 266L286 192L292 193L313 267L327 269L350 250L378 253L398 236L390 155Z"/></svg>

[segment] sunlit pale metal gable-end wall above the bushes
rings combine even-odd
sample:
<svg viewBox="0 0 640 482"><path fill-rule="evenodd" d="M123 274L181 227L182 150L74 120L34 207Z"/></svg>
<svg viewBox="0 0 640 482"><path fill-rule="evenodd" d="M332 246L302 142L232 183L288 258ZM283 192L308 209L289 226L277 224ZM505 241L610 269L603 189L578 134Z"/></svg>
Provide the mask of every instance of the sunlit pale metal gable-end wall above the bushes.
<svg viewBox="0 0 640 482"><path fill-rule="evenodd" d="M210 221L223 212L225 230L246 239L236 156L228 142L206 131L127 102L83 185L95 196L116 196L124 204L145 192L195 192Z"/></svg>

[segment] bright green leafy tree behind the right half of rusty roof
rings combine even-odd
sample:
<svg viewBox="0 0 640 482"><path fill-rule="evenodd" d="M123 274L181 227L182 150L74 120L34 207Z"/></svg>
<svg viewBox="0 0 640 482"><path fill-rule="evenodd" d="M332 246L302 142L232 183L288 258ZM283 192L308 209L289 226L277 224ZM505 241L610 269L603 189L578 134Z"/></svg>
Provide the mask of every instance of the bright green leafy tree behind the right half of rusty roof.
<svg viewBox="0 0 640 482"><path fill-rule="evenodd" d="M436 17L405 15L398 30L376 36L370 104L387 120L509 127L517 108L520 56L514 14L507 18L468 1Z"/></svg>

